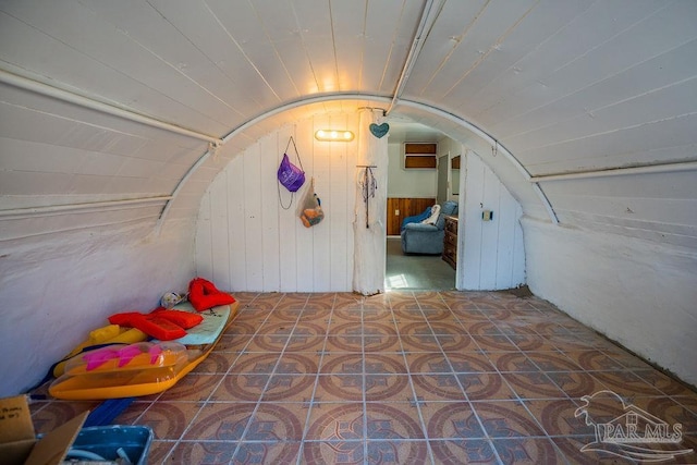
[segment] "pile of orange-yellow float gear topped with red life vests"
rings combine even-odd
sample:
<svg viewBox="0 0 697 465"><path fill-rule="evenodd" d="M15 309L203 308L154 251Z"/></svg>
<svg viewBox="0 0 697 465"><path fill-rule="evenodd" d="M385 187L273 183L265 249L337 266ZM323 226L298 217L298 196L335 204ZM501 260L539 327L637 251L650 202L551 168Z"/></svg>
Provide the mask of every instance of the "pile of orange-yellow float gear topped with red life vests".
<svg viewBox="0 0 697 465"><path fill-rule="evenodd" d="M66 400L149 395L200 364L237 311L235 298L203 278L184 296L167 293L148 314L120 313L52 368L49 394Z"/></svg>

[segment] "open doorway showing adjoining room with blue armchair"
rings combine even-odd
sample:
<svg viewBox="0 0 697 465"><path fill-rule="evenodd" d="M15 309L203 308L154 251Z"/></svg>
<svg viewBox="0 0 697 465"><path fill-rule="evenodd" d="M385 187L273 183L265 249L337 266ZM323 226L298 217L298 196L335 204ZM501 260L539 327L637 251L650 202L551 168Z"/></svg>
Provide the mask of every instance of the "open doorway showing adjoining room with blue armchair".
<svg viewBox="0 0 697 465"><path fill-rule="evenodd" d="M455 140L418 123L390 123L389 137L386 291L453 290L456 264L443 259L444 220L438 221L437 215L431 218L438 223L430 225L432 232L413 227L405 231L403 225L407 218L414 222L428 220L428 213L435 212L433 205L457 201L451 152L461 150L453 149ZM460 171L455 174L458 176ZM456 230L450 236L456 247Z"/></svg>

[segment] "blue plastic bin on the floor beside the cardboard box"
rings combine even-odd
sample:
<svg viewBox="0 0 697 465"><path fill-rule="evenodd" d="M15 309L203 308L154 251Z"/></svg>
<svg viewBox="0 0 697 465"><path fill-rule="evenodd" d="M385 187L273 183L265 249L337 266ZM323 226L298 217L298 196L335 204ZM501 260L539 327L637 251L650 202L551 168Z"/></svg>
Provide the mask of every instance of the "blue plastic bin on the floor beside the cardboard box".
<svg viewBox="0 0 697 465"><path fill-rule="evenodd" d="M152 437L152 429L147 426L93 426L80 431L71 449L91 452L108 461L119 458L117 450L123 449L134 465L145 465Z"/></svg>

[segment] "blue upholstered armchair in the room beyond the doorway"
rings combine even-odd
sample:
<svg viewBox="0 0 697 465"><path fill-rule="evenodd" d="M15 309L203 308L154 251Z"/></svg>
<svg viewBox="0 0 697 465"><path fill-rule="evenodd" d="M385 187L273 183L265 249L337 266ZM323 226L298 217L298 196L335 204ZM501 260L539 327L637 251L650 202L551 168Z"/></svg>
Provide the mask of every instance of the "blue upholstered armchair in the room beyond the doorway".
<svg viewBox="0 0 697 465"><path fill-rule="evenodd" d="M442 205L436 224L407 221L409 218L405 218L402 224L402 252L404 254L442 254L443 237L445 236L445 219L443 217L455 215L457 215L457 203L448 200Z"/></svg>

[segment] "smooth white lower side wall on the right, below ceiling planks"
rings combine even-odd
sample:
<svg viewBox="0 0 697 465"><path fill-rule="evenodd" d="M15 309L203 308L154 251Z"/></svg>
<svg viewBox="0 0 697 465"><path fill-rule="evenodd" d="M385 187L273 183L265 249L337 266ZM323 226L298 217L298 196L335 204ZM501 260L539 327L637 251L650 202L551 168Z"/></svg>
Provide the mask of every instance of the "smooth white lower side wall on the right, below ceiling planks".
<svg viewBox="0 0 697 465"><path fill-rule="evenodd" d="M530 290L697 384L697 253L580 228L522 221Z"/></svg>

